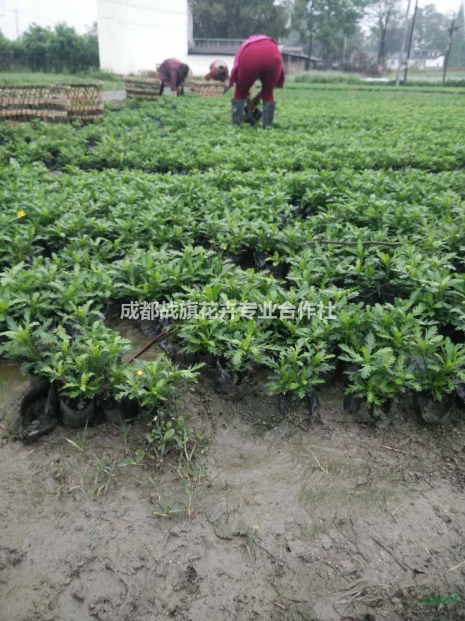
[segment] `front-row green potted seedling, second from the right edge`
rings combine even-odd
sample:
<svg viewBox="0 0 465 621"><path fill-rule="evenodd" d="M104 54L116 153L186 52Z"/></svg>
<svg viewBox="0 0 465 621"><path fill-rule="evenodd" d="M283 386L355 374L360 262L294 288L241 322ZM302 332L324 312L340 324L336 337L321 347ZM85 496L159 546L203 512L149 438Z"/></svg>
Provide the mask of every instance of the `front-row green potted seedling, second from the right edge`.
<svg viewBox="0 0 465 621"><path fill-rule="evenodd" d="M394 355L391 347L379 347L371 332L363 345L355 348L342 343L340 348L345 353L339 358L352 365L345 371L349 378L345 409L358 414L362 422L387 424L392 419L393 397L419 389L405 354Z"/></svg>

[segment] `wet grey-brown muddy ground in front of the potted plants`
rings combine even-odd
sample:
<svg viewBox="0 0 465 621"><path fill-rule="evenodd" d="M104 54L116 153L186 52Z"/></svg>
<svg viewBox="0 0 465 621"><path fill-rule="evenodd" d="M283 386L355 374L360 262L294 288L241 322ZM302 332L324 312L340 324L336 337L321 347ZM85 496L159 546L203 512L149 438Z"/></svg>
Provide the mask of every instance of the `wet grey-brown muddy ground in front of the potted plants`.
<svg viewBox="0 0 465 621"><path fill-rule="evenodd" d="M203 378L182 409L210 442L187 481L136 465L141 421L87 430L85 454L63 427L15 441L27 381L2 365L1 621L465 619L460 412L424 427L405 401L374 429L334 384L309 425L260 384L231 402Z"/></svg>

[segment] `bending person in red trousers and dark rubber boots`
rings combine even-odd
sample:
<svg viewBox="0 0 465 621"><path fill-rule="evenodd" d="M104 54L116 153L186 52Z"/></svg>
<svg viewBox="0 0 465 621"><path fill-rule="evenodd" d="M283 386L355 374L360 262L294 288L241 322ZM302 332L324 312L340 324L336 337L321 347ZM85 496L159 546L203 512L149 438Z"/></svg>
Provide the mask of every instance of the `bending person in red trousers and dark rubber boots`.
<svg viewBox="0 0 465 621"><path fill-rule="evenodd" d="M262 90L251 99L249 91L257 79L262 83ZM251 35L237 50L229 78L229 86L236 84L234 99L231 101L232 122L241 125L244 120L245 101L249 114L252 115L260 99L263 99L263 127L271 125L275 114L273 90L283 88L284 79L283 57L278 43L267 35Z"/></svg>

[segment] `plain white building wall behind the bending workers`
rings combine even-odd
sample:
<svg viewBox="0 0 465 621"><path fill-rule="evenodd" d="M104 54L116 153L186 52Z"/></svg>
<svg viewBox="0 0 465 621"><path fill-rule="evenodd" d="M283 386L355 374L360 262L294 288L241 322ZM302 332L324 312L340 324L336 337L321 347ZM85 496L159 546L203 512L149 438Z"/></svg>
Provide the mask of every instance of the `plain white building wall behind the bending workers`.
<svg viewBox="0 0 465 621"><path fill-rule="evenodd" d="M97 0L100 67L115 73L154 70L166 58L208 73L218 55L187 53L187 0ZM233 56L222 56L232 69Z"/></svg>

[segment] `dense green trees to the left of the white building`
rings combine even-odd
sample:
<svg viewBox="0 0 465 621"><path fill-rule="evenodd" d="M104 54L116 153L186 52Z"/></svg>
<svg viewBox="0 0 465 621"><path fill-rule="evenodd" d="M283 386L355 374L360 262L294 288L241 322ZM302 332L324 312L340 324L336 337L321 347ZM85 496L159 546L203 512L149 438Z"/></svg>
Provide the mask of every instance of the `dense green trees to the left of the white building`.
<svg viewBox="0 0 465 621"><path fill-rule="evenodd" d="M83 35L67 24L54 29L32 24L14 41L0 34L0 71L20 68L56 73L99 68L97 24Z"/></svg>

